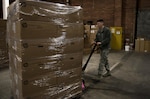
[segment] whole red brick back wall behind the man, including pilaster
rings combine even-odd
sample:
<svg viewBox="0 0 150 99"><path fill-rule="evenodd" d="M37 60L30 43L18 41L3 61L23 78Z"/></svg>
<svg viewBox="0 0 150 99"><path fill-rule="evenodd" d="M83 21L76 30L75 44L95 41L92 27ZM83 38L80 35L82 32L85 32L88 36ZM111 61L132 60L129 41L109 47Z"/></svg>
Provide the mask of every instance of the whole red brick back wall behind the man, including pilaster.
<svg viewBox="0 0 150 99"><path fill-rule="evenodd" d="M107 26L122 26L124 38L133 41L136 0L71 0L71 5L83 7L85 21L103 18Z"/></svg>

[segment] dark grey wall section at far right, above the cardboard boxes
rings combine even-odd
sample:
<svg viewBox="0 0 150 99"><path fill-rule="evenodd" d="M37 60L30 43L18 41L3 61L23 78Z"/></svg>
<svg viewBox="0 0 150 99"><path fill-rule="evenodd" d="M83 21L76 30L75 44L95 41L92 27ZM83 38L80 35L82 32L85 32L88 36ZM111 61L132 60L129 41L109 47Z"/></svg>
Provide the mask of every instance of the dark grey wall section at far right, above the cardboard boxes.
<svg viewBox="0 0 150 99"><path fill-rule="evenodd" d="M150 0L139 0L137 37L150 39Z"/></svg>

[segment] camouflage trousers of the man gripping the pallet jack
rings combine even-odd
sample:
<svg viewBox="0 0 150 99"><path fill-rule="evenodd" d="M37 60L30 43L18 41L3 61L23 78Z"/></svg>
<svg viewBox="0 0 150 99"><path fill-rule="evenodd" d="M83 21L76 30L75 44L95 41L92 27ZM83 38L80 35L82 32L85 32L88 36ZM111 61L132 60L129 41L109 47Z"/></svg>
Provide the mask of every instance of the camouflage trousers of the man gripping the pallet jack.
<svg viewBox="0 0 150 99"><path fill-rule="evenodd" d="M102 49L100 50L100 63L99 63L99 69L98 69L98 74L103 74L104 68L106 71L110 71L109 68L109 63L108 63L108 54L109 54L109 49Z"/></svg>

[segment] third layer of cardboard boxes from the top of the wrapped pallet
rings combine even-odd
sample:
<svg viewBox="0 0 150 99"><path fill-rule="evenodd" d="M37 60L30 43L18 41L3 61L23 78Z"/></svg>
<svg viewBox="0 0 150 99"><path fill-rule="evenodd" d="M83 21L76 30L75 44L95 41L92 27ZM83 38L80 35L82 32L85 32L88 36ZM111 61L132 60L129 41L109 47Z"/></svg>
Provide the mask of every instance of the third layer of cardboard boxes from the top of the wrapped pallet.
<svg viewBox="0 0 150 99"><path fill-rule="evenodd" d="M66 41L66 42L65 42ZM81 39L65 39L64 42L41 42L41 41L23 41L22 43L15 42L10 46L13 53L21 59L30 60L36 58L52 57L53 55L62 55L69 53L82 52L83 40ZM12 42L13 43L13 42ZM60 44L59 44L60 43Z"/></svg>

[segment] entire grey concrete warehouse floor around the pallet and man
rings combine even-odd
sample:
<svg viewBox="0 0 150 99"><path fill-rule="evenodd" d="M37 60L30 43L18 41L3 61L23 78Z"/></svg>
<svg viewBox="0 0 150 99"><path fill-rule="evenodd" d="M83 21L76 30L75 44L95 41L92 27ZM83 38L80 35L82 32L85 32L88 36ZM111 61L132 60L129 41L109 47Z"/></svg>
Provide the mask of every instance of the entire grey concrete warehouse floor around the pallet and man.
<svg viewBox="0 0 150 99"><path fill-rule="evenodd" d="M83 58L83 64L88 55ZM85 74L96 75L99 64L99 54L95 53L85 71ZM149 64L150 53L134 53L111 51L109 63L112 76L102 81L85 77L87 90L83 99L150 99ZM0 99L10 99L9 70L0 70Z"/></svg>

